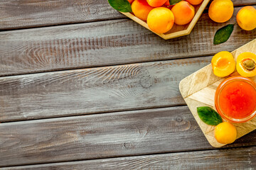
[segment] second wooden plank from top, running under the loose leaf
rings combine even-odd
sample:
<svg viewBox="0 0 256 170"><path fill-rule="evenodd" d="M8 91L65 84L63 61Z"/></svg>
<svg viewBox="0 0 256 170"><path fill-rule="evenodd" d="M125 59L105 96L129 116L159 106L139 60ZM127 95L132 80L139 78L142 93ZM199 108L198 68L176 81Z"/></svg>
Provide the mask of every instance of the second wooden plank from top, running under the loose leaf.
<svg viewBox="0 0 256 170"><path fill-rule="evenodd" d="M234 22L235 16L229 23ZM190 35L171 40L127 19L5 31L0 33L0 76L207 56L256 37L256 29L236 25L225 45L213 45L215 31L226 24L204 13Z"/></svg>

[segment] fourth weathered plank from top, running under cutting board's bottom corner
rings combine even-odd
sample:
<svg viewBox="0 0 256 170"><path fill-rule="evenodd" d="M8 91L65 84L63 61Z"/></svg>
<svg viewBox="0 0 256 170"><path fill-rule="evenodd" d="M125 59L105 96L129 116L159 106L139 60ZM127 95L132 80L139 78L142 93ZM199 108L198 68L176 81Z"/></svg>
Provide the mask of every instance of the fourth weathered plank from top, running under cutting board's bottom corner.
<svg viewBox="0 0 256 170"><path fill-rule="evenodd" d="M0 136L0 166L213 149L187 106L1 123Z"/></svg>

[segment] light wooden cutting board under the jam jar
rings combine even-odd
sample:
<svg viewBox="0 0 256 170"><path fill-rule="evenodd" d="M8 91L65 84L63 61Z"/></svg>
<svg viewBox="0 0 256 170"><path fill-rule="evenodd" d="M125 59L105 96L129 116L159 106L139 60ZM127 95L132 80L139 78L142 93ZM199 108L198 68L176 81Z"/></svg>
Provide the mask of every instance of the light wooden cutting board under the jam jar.
<svg viewBox="0 0 256 170"><path fill-rule="evenodd" d="M236 60L238 55L240 55L242 52L252 52L256 54L256 39L231 53ZM238 72L234 72L232 75L238 75ZM210 106L211 108L215 109L215 91L220 82L224 79L225 78L216 77L213 74L211 64L208 64L206 67L199 69L197 72L194 72L185 79L181 80L179 84L181 95L186 101L188 108L191 110L191 113L203 131L203 134L206 136L206 139L213 147L222 147L224 145L215 140L215 127L203 123L203 121L198 117L196 108L201 106ZM256 82L256 77L251 77L251 79ZM233 125L235 125L238 130L238 139L239 137L242 137L243 135L246 135L247 133L256 129L256 118L253 118L247 123L233 123Z"/></svg>

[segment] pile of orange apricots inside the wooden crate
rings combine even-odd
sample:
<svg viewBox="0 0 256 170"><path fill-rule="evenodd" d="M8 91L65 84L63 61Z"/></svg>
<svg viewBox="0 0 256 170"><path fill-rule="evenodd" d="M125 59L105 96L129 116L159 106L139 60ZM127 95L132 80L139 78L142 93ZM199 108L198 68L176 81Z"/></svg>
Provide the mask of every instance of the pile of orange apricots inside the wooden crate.
<svg viewBox="0 0 256 170"><path fill-rule="evenodd" d="M155 33L166 33L174 26L186 25L195 16L194 6L203 0L180 1L170 6L169 0L129 0L132 13L137 18L146 21Z"/></svg>

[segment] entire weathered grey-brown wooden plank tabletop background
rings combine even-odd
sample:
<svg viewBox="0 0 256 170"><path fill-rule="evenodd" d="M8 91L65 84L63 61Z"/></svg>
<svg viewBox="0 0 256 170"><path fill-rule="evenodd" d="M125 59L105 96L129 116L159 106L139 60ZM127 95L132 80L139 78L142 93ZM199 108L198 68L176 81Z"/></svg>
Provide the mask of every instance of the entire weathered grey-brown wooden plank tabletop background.
<svg viewBox="0 0 256 170"><path fill-rule="evenodd" d="M256 7L233 3L228 23ZM216 52L256 38L235 25L213 45L228 23L206 9L191 35L162 40L107 0L1 0L0 166L13 166L1 169L254 169L256 132L210 147L178 91Z"/></svg>

